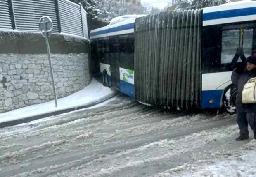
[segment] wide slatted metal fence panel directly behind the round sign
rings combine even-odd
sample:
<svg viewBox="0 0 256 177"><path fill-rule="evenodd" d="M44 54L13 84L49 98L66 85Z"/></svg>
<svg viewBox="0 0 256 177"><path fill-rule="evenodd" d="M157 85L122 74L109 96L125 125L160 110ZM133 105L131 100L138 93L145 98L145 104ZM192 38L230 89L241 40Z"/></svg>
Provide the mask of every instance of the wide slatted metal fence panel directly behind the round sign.
<svg viewBox="0 0 256 177"><path fill-rule="evenodd" d="M38 23L42 16L49 16L53 23L53 33L59 32L55 0L12 0L16 29L39 32Z"/></svg>

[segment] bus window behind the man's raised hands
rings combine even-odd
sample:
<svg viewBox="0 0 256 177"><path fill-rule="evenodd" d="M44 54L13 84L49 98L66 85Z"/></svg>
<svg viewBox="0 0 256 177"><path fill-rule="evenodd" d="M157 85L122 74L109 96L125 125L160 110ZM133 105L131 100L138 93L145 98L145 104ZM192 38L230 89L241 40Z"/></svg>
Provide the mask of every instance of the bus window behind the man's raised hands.
<svg viewBox="0 0 256 177"><path fill-rule="evenodd" d="M237 48L243 48L245 57L249 57L252 51L253 29L225 30L222 32L221 64L231 63ZM239 58L237 62L242 62Z"/></svg>

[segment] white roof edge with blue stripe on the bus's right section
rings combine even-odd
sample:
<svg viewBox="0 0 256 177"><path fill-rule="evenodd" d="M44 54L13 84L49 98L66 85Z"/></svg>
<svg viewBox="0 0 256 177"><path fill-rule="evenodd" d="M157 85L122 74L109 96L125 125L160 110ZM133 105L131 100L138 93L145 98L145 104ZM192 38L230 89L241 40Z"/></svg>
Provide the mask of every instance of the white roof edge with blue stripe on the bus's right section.
<svg viewBox="0 0 256 177"><path fill-rule="evenodd" d="M203 26L256 20L256 2L244 0L203 9Z"/></svg>

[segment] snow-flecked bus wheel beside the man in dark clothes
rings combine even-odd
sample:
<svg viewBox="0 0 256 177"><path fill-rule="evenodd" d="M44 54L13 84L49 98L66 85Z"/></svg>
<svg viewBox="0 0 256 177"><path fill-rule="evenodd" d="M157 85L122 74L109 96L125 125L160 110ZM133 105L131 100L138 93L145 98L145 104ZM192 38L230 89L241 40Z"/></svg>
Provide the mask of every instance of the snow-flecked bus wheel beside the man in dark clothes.
<svg viewBox="0 0 256 177"><path fill-rule="evenodd" d="M236 99L237 99L237 87L235 87L235 85L228 86L225 89L224 94L223 94L223 103L224 103L225 109L230 114L235 113Z"/></svg>

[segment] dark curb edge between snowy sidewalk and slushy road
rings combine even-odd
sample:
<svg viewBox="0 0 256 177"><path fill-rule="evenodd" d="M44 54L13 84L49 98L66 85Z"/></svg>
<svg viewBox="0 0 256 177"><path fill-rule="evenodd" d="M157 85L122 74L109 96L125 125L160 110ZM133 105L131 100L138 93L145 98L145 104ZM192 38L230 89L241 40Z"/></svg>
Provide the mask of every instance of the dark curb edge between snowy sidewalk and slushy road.
<svg viewBox="0 0 256 177"><path fill-rule="evenodd" d="M51 113L45 113L45 114L41 114L41 115L25 117L25 118L18 119L18 120L2 122L2 123L0 123L0 128L4 128L4 127L7 127L7 126L14 126L14 125L22 124L22 123L28 123L28 122L31 122L33 120L38 120L38 119L42 119L42 118L50 117L50 116L54 116L54 115L60 115L60 114L63 114L63 113L68 113L68 112L74 111L74 110L89 108L91 106L95 106L96 104L102 103L104 101L107 101L108 99L113 98L118 93L119 93L118 91L115 91L113 94L110 94L110 95L108 95L106 97L103 97L99 101L96 101L96 102L93 102L93 103L88 103L87 105L73 107L73 108L68 108L68 109L64 109L64 110L57 110L57 111L54 111L54 112L51 112Z"/></svg>

